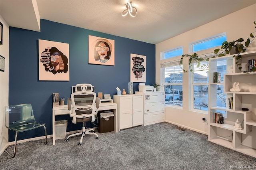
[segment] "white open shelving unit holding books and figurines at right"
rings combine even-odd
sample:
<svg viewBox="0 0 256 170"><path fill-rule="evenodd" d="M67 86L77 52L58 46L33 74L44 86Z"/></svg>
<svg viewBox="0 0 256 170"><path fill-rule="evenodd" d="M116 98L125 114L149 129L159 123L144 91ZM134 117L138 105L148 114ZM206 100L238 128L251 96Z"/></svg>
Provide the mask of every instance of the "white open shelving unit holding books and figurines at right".
<svg viewBox="0 0 256 170"><path fill-rule="evenodd" d="M256 59L256 51L241 53L242 71L248 71L248 60ZM256 157L256 73L242 73L236 66L234 55L209 59L209 115L208 140L231 148L238 152ZM218 65L226 62L227 73L224 81L213 83L213 73L219 72ZM234 82L239 82L238 91L230 91ZM222 87L226 94L226 107L218 106L218 89ZM217 94L217 95L216 95ZM223 93L222 93L223 94ZM228 98L233 97L233 109L228 109ZM248 108L249 111L242 111ZM214 123L214 113L224 115L224 124ZM236 119L242 123L242 129L234 128Z"/></svg>

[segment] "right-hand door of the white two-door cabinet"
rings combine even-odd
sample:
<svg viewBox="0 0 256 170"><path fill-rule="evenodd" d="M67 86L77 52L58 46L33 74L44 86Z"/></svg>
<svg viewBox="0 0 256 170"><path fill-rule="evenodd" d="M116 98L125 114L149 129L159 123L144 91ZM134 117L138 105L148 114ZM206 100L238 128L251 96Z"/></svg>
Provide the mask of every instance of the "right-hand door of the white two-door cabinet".
<svg viewBox="0 0 256 170"><path fill-rule="evenodd" d="M143 96L132 97L132 126L143 125Z"/></svg>

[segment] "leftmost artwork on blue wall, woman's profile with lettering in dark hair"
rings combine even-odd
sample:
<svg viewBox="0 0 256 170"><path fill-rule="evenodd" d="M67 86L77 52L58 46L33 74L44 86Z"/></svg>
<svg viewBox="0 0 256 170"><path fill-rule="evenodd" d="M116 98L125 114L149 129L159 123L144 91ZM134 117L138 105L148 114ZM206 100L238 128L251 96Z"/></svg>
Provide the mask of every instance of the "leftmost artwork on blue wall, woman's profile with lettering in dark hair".
<svg viewBox="0 0 256 170"><path fill-rule="evenodd" d="M69 81L69 44L38 40L39 80Z"/></svg>

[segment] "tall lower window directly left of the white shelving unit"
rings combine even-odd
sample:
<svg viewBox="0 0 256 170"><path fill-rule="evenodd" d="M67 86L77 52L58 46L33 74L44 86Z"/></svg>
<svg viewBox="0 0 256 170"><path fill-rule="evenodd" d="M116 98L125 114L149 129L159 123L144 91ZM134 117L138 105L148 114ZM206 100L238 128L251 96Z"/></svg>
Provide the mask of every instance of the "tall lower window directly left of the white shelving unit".
<svg viewBox="0 0 256 170"><path fill-rule="evenodd" d="M208 65L208 61L201 62ZM193 109L208 111L208 69L201 70L193 64L192 91L194 93Z"/></svg>

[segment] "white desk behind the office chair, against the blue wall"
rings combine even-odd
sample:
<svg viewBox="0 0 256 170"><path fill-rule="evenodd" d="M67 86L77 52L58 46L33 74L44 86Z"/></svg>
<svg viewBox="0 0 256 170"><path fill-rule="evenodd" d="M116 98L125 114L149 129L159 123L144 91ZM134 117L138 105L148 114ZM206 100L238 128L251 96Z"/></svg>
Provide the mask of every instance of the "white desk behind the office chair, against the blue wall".
<svg viewBox="0 0 256 170"><path fill-rule="evenodd" d="M96 107L96 106L95 106ZM98 111L113 110L114 112L114 131L117 132L117 104L116 103L100 103ZM68 105L52 108L52 145L55 145L55 116L69 115Z"/></svg>

